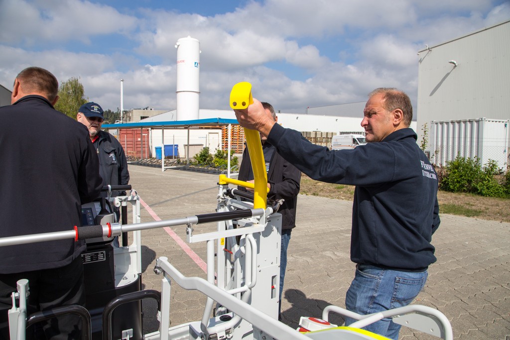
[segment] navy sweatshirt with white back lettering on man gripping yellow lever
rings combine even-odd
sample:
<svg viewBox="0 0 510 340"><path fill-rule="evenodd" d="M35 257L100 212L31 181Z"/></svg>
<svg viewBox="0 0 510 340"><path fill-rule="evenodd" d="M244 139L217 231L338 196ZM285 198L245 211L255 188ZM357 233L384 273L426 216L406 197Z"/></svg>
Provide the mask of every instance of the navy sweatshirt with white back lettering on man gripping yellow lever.
<svg viewBox="0 0 510 340"><path fill-rule="evenodd" d="M416 139L413 129L403 128L379 143L329 150L275 124L267 140L311 178L356 186L354 263L421 271L436 261L430 241L440 219L437 174Z"/></svg>

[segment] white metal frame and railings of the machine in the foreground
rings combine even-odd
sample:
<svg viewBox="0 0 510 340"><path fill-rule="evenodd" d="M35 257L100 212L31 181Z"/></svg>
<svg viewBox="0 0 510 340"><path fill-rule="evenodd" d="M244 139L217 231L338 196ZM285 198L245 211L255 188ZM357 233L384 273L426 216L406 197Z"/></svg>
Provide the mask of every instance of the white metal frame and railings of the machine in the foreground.
<svg viewBox="0 0 510 340"><path fill-rule="evenodd" d="M229 189L228 185L219 184L217 213L148 223L140 223L140 201L136 191L132 191L128 196L109 198L115 206L126 205L128 202L133 205L133 224L113 223L111 227L102 226L103 236L109 232L111 236L118 236L121 232L133 231L132 244L115 249L116 261L118 257L116 285L141 273L140 235L143 229L186 225L187 242L207 242L207 280L199 277L185 277L169 263L166 257L157 259L155 270L162 274L161 310L158 311L160 327L158 331L144 335L144 339L373 339L374 337L370 334L357 332L355 329L382 318L393 318L394 322L403 326L445 340L452 340L451 325L443 313L420 305L409 305L367 316L331 305L324 309L323 320L328 320L330 312L336 312L359 321L349 327L336 327L310 333L300 333L277 321L281 215L275 212L277 206L255 209L251 202L241 200L238 194L239 192ZM239 213L243 216L236 217ZM216 231L194 233L194 224L212 222L212 220L217 222ZM75 236L76 233L72 230L3 238L0 239L0 246ZM236 237L239 238L239 242ZM207 296L200 321L169 327L172 280L186 290L196 290ZM11 339L24 339L27 289L28 281L20 280L18 292L13 293L13 308L9 311L9 315L12 316ZM18 306L16 306L15 298L19 298ZM123 334L123 338L130 338L129 331L126 330Z"/></svg>

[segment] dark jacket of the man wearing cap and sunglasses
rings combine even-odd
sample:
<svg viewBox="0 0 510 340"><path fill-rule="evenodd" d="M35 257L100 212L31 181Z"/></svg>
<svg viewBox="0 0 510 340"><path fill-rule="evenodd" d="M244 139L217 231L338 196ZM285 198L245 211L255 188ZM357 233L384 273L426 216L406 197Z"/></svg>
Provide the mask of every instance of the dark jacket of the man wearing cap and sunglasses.
<svg viewBox="0 0 510 340"><path fill-rule="evenodd" d="M103 178L103 186L129 184L127 160L119 141L106 131L99 131L97 136L94 147L99 156L99 174ZM118 195L124 195L124 192L112 192L112 196ZM101 196L107 195L102 192Z"/></svg>

